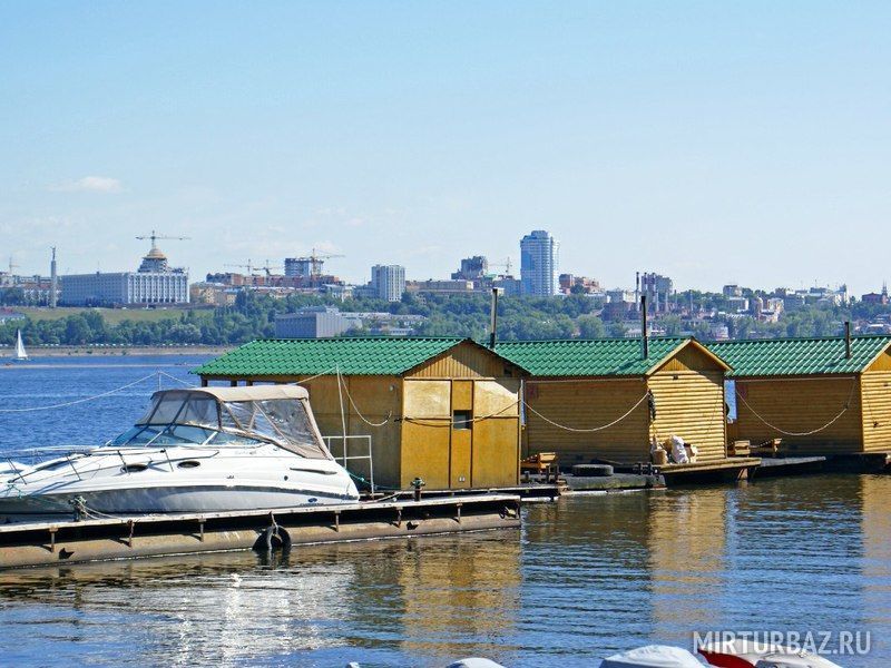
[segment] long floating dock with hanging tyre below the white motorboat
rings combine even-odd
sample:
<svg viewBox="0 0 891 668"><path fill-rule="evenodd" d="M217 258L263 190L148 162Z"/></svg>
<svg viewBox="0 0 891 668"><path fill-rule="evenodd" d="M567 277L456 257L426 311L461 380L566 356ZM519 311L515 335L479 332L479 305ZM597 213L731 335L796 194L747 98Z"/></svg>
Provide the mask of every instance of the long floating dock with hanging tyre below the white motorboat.
<svg viewBox="0 0 891 668"><path fill-rule="evenodd" d="M517 529L516 494L0 525L0 569Z"/></svg>

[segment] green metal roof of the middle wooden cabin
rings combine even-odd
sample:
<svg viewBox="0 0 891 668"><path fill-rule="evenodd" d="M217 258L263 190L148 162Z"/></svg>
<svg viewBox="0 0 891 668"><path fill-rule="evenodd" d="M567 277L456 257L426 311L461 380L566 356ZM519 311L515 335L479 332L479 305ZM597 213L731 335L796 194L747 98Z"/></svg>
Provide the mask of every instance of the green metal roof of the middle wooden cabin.
<svg viewBox="0 0 891 668"><path fill-rule="evenodd" d="M644 360L639 338L509 341L496 352L533 376L643 376L689 338L650 338Z"/></svg>

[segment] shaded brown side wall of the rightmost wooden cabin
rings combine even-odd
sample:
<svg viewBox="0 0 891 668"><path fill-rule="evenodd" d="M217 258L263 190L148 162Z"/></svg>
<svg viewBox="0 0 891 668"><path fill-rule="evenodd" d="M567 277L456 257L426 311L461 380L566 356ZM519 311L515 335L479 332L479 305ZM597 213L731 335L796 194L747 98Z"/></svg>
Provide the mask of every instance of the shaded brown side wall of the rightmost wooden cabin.
<svg viewBox="0 0 891 668"><path fill-rule="evenodd" d="M822 455L862 451L858 376L736 379L735 385L740 439L750 440L753 445L771 439L782 439L782 449L790 454ZM819 430L839 415L849 400L849 409L841 418L817 433L790 436L779 431L802 433ZM764 421L777 429L767 426Z"/></svg>

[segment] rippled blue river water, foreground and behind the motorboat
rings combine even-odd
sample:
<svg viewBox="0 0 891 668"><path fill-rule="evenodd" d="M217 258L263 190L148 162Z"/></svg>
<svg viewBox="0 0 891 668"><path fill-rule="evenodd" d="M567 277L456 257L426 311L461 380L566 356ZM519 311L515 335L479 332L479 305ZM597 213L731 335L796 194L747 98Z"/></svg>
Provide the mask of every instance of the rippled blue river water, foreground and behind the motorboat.
<svg viewBox="0 0 891 668"><path fill-rule="evenodd" d="M180 363L185 364L180 364ZM0 407L107 392L199 360L0 367ZM166 376L164 386L178 383ZM0 446L126 429L157 377L0 413ZM521 531L0 572L0 664L597 666L694 632L870 633L891 666L891 478L812 475L527 507ZM831 637L829 648L836 646Z"/></svg>

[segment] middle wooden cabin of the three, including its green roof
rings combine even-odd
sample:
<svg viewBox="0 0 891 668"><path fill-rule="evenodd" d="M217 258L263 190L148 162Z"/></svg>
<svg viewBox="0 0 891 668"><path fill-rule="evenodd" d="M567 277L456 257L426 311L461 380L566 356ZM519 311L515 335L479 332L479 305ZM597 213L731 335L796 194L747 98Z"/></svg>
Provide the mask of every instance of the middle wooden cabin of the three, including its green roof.
<svg viewBox="0 0 891 668"><path fill-rule="evenodd" d="M650 440L672 435L699 462L726 458L728 366L693 338L506 342L497 352L526 381L525 453L557 452L562 466L650 461ZM655 413L655 418L654 418Z"/></svg>

